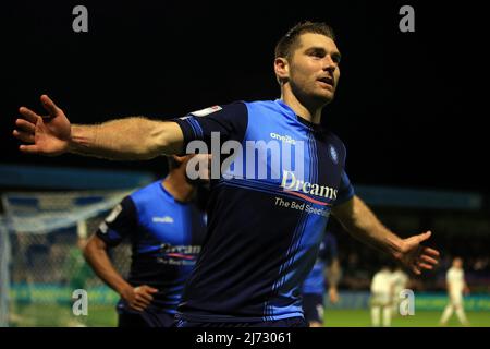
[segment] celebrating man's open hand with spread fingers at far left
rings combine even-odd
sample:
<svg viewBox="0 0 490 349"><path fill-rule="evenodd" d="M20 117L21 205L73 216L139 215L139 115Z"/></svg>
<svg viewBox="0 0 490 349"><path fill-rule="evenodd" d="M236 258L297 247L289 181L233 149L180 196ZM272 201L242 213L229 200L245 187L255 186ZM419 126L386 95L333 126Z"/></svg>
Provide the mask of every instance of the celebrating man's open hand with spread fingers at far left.
<svg viewBox="0 0 490 349"><path fill-rule="evenodd" d="M28 154L56 156L66 153L71 140L71 124L61 110L47 96L40 97L47 116L39 116L33 110L21 107L21 118L15 120L13 135L22 141L19 148Z"/></svg>

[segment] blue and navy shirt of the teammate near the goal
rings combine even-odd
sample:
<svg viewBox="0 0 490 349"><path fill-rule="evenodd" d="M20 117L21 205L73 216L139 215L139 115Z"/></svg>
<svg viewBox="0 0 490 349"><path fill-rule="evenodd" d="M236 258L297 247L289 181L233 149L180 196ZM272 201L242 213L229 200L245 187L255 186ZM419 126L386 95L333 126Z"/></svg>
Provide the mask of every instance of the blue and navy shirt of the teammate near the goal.
<svg viewBox="0 0 490 349"><path fill-rule="evenodd" d="M130 239L127 281L157 288L150 306L174 314L204 241L204 213L176 201L158 181L124 197L96 233L108 246ZM130 311L124 301L118 309Z"/></svg>

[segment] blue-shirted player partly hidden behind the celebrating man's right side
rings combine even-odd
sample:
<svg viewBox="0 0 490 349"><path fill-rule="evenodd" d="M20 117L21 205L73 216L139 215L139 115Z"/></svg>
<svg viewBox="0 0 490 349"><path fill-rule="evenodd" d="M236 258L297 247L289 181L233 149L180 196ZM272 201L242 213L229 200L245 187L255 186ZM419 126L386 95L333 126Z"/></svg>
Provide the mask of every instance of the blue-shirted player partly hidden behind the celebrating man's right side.
<svg viewBox="0 0 490 349"><path fill-rule="evenodd" d="M323 326L326 276L329 300L334 304L339 301L336 286L341 276L341 269L336 239L330 231L326 232L320 243L317 261L302 287L303 311L309 327Z"/></svg>

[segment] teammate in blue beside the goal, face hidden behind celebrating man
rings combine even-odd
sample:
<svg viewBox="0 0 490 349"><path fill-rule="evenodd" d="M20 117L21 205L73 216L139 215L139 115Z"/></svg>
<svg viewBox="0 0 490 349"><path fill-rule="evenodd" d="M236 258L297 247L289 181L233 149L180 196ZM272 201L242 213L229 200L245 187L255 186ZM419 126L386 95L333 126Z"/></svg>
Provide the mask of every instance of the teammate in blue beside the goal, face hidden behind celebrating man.
<svg viewBox="0 0 490 349"><path fill-rule="evenodd" d="M169 157L169 174L124 197L84 250L96 274L120 296L120 327L170 327L184 282L204 241L204 213L193 203L198 182L186 177L192 156ZM130 239L127 279L112 265L108 250Z"/></svg>

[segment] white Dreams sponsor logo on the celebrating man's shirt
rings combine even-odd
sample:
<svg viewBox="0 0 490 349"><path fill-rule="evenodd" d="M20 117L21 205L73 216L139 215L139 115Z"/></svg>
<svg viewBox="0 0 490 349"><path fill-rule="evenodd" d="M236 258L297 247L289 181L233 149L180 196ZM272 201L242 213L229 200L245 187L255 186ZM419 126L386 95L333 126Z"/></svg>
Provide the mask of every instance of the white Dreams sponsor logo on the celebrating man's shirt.
<svg viewBox="0 0 490 349"><path fill-rule="evenodd" d="M318 204L318 205L330 205L328 203L323 203L321 201L311 198L305 194L310 194L315 196L321 196L327 197L330 200L336 198L336 189L324 186L324 185L318 185L315 183L305 182L301 179L296 179L296 176L294 176L291 171L283 171L282 172L282 182L281 186L290 194L299 196L306 201L309 201L310 203ZM305 193L305 194L303 194Z"/></svg>

